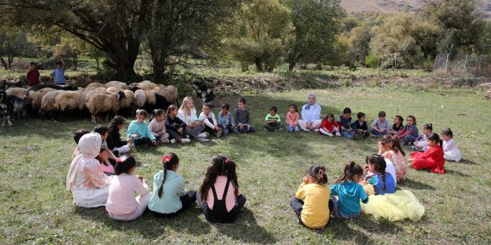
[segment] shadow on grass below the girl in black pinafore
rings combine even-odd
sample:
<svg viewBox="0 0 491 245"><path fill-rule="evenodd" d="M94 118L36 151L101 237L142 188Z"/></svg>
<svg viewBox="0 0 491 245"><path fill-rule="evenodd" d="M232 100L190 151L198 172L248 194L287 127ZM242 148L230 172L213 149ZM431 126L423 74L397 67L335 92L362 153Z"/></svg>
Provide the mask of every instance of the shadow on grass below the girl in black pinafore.
<svg viewBox="0 0 491 245"><path fill-rule="evenodd" d="M252 211L244 207L237 216L234 223L215 223L213 224L217 230L227 237L232 237L240 243L256 243L256 244L273 244L276 239L257 224L256 218Z"/></svg>

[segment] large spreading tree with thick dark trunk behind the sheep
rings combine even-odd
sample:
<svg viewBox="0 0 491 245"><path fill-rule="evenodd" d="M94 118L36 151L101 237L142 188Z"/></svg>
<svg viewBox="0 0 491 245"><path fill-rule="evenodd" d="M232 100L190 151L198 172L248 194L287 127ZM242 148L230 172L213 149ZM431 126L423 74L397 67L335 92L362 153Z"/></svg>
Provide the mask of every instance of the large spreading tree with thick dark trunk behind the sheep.
<svg viewBox="0 0 491 245"><path fill-rule="evenodd" d="M130 79L150 0L4 0L0 15L21 25L56 26L108 54L118 77Z"/></svg>

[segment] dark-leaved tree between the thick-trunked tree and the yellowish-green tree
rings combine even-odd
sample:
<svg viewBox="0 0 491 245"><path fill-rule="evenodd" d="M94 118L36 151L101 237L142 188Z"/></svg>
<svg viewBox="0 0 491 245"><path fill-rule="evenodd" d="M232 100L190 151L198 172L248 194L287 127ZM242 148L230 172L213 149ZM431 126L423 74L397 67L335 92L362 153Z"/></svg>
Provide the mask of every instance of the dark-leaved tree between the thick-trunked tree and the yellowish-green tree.
<svg viewBox="0 0 491 245"><path fill-rule="evenodd" d="M145 27L155 81L169 66L187 66L188 58L206 58L221 50L221 29L239 7L237 0L150 1Z"/></svg>

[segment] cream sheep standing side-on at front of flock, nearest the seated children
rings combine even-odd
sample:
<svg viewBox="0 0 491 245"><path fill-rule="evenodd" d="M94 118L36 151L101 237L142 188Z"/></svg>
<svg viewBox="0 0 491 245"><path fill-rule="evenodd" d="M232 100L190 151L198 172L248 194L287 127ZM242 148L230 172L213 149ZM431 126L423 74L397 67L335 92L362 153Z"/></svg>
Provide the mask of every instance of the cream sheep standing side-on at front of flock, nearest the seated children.
<svg viewBox="0 0 491 245"><path fill-rule="evenodd" d="M94 124L97 122L97 114L99 114L99 112L118 112L118 110L121 108L121 101L124 99L124 97L123 91L118 92L118 94L92 94L89 100L85 103L85 106L87 106L87 109L89 109L90 114L92 114L92 122L94 122Z"/></svg>

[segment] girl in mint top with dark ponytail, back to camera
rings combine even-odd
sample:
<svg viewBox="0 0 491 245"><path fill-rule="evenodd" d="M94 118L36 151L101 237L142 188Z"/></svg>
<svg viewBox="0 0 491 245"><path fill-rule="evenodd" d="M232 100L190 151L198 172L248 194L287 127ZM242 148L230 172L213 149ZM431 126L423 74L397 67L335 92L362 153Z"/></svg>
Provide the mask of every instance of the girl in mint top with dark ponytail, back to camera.
<svg viewBox="0 0 491 245"><path fill-rule="evenodd" d="M171 217L196 202L196 191L186 191L184 179L177 174L179 158L168 153L162 156L162 168L153 177L153 191L148 209L159 218Z"/></svg>

